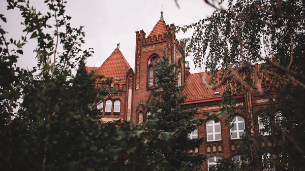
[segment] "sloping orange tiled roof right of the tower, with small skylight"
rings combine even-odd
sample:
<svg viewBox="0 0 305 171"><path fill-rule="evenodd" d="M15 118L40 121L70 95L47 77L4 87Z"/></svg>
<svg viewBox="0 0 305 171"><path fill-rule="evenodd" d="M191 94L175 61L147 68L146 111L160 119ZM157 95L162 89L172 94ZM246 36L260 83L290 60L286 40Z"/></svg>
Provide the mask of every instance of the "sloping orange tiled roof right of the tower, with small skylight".
<svg viewBox="0 0 305 171"><path fill-rule="evenodd" d="M207 89L202 81L202 77L205 77L206 82L209 83L211 79L211 75L207 73L196 73L191 74L187 78L187 85L182 92L182 94L188 94L187 101L205 99L205 98L214 98L214 97L221 97L224 86L217 88L216 90ZM215 92L219 91L219 94L214 94Z"/></svg>

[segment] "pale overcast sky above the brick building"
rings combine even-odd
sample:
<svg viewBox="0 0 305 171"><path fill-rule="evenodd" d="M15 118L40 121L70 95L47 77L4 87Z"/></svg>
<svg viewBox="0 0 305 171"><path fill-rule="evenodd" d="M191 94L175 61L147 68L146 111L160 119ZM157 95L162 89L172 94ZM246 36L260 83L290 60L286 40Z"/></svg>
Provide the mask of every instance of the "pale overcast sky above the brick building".
<svg viewBox="0 0 305 171"><path fill-rule="evenodd" d="M30 0L29 2L41 13L45 13L46 7L43 0ZM116 44L120 43L120 51L134 69L135 31L143 29L148 36L160 19L162 4L166 24L191 24L206 18L214 11L203 0L178 0L177 2L180 9L177 8L174 0L69 0L66 13L72 17L70 20L72 26L84 26L86 36L83 49L94 48L95 54L87 59L87 66L102 65L116 48ZM6 1L0 0L0 13L3 13L8 21L8 23L0 21L0 25L9 31L10 37L18 40L21 35L24 36L22 33L24 28L20 25L20 12L6 11L6 6ZM177 38L190 36L191 33L179 33ZM24 47L24 55L18 59L18 66L33 67L36 65L37 61L33 53L35 47L35 41L29 41ZM191 64L191 73L199 71L194 70Z"/></svg>

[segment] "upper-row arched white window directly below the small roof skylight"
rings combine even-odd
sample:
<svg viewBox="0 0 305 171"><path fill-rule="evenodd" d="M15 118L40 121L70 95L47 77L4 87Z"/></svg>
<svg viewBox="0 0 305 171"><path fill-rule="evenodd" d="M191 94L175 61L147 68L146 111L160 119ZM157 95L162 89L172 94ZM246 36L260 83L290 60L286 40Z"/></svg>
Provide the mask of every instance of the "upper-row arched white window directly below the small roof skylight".
<svg viewBox="0 0 305 171"><path fill-rule="evenodd" d="M221 140L220 122L215 122L215 119L209 120L206 123L206 135L207 135L207 141Z"/></svg>

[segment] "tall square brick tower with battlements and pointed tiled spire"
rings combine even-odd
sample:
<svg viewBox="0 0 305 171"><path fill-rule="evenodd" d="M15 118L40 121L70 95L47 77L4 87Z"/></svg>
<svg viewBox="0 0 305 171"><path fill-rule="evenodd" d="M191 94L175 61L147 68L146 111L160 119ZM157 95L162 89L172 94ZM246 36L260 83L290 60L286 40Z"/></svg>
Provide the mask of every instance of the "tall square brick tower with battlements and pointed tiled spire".
<svg viewBox="0 0 305 171"><path fill-rule="evenodd" d="M175 36L175 25L166 25L163 12L153 30L146 37L143 30L136 31L135 80L133 89L133 123L146 122L147 112L144 105L151 99L151 91L156 87L155 67L165 53L170 62L176 63L176 70L181 70L178 84L185 83L184 43L178 42Z"/></svg>

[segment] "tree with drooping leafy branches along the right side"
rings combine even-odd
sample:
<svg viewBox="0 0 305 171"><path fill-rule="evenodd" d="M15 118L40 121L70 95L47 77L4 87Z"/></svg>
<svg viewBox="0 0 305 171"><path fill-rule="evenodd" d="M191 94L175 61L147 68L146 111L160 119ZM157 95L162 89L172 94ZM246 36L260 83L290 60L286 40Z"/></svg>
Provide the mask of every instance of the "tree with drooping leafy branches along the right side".
<svg viewBox="0 0 305 171"><path fill-rule="evenodd" d="M248 114L250 123L260 116L263 131L272 132L269 138L247 134L254 149L249 154L250 168L267 168L259 163L261 156L267 160L264 153L270 153L277 170L304 169L304 2L220 1L221 6L228 3L226 9L205 2L216 11L178 30L195 29L187 50L193 53L195 64L204 65L215 76L204 84L210 89L227 85L222 110L228 121L235 110L234 94L242 89L248 97L260 94L270 98L266 109ZM261 87L257 87L260 82ZM272 148L268 142L273 142Z"/></svg>

